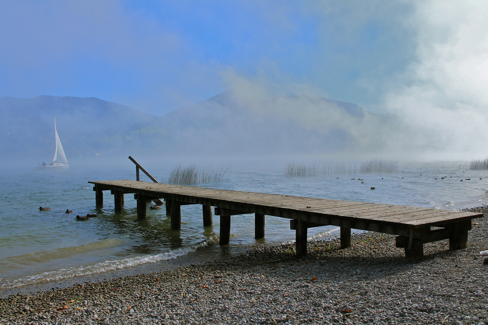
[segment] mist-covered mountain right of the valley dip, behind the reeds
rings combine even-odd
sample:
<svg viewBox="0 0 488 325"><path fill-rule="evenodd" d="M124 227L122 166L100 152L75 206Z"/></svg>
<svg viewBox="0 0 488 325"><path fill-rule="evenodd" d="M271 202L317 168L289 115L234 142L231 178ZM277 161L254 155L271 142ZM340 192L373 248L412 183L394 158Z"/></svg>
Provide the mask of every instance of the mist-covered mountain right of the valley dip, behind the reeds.
<svg viewBox="0 0 488 325"><path fill-rule="evenodd" d="M196 153L378 151L397 117L310 96L261 100L226 91L161 118L166 147ZM170 149L170 148L168 148Z"/></svg>

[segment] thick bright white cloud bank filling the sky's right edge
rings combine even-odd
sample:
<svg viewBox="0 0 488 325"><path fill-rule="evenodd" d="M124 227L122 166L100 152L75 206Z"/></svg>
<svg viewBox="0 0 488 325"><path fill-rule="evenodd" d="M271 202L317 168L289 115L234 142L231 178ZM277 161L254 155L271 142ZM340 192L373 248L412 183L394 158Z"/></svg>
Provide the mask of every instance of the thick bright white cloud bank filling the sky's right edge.
<svg viewBox="0 0 488 325"><path fill-rule="evenodd" d="M488 153L487 14L483 1L416 2L415 59L384 96L411 129L401 147L444 158Z"/></svg>

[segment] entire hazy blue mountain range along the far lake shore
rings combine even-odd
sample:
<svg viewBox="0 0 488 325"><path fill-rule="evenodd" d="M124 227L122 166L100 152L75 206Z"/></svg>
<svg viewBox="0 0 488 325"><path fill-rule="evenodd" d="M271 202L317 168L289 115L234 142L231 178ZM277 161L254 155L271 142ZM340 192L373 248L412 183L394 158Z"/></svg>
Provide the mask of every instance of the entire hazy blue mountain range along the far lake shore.
<svg viewBox="0 0 488 325"><path fill-rule="evenodd" d="M396 116L311 96L256 99L225 91L162 117L98 98L0 97L0 152L45 160L53 117L68 160L97 153L313 154L375 152Z"/></svg>

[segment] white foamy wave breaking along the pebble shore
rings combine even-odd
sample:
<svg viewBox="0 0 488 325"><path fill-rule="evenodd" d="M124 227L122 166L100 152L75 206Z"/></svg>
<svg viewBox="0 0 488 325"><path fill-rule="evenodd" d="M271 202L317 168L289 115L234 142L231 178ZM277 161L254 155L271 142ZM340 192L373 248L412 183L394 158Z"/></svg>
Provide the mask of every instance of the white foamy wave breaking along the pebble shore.
<svg viewBox="0 0 488 325"><path fill-rule="evenodd" d="M60 281L62 279L73 278L81 275L103 273L103 272L113 271L121 268L130 268L130 267L134 267L146 263L157 263L160 261L175 259L180 256L186 255L190 252L195 251L200 247L207 246L209 242L210 242L209 240L204 240L203 242L200 242L198 244L189 245L184 248L175 249L173 251L168 251L168 252L159 253L155 255L136 256L131 258L124 258L122 260L105 261L95 265L79 266L73 268L62 268L57 271L49 271L37 275L20 277L18 279L10 279L7 280L7 282L4 284L0 284L0 288L1 289L15 288L15 287L33 285L41 282Z"/></svg>

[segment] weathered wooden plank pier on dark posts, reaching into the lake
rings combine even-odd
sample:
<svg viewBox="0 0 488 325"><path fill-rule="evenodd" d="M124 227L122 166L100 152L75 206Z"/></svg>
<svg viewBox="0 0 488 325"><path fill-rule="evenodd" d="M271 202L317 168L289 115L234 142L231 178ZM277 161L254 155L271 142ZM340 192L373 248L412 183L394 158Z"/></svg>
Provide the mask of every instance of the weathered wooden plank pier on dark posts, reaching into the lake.
<svg viewBox="0 0 488 325"><path fill-rule="evenodd" d="M212 207L220 216L220 244L230 240L231 216L254 213L255 238L264 238L264 217L271 215L290 219L296 230L296 254L306 254L307 229L337 226L341 229L341 248L351 246L351 229L369 230L396 235L396 247L405 249L407 261L422 259L424 244L449 239L449 249L467 247L471 219L482 213L440 210L328 200L320 198L209 189L194 186L149 183L131 180L91 181L96 192L96 205L103 205L103 192L114 195L115 211L122 211L124 194L134 193L137 217L146 217L147 201L164 199L171 229L181 229L181 206L203 206L203 226L213 223ZM431 229L432 227L436 229Z"/></svg>

